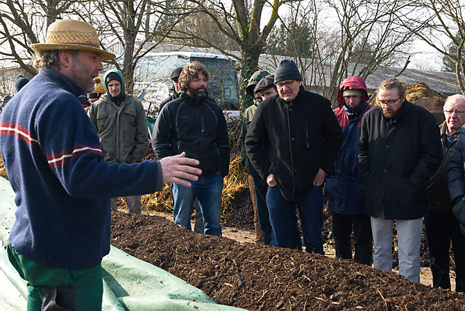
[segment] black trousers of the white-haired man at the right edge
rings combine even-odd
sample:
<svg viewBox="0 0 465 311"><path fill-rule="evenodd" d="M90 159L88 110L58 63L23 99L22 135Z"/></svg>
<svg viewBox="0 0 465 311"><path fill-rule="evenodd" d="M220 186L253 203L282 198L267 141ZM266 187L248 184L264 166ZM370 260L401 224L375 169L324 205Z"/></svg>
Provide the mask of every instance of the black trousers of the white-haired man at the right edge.
<svg viewBox="0 0 465 311"><path fill-rule="evenodd" d="M465 236L452 211L437 213L428 210L425 215L425 231L430 251L432 284L450 290L449 249L452 249L455 260L455 291L465 291Z"/></svg>

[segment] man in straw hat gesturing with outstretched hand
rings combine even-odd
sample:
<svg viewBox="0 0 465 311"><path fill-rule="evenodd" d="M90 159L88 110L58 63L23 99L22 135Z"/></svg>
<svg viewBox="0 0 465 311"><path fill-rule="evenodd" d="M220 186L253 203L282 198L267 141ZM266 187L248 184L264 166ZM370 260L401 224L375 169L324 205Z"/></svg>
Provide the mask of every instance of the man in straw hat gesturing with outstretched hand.
<svg viewBox="0 0 465 311"><path fill-rule="evenodd" d="M110 197L189 186L185 154L110 164L78 96L94 91L103 51L83 21L56 21L33 44L40 69L0 118L1 155L18 206L8 258L28 282L28 310L101 310L101 259L110 251ZM182 178L182 179L181 179Z"/></svg>

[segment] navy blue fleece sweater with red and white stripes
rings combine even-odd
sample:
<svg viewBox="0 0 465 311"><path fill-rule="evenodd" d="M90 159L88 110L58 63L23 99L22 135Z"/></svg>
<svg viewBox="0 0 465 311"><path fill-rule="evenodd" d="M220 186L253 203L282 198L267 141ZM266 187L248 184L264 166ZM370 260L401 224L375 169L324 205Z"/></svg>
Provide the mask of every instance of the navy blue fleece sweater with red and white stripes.
<svg viewBox="0 0 465 311"><path fill-rule="evenodd" d="M84 90L41 69L0 118L0 150L18 206L10 243L36 263L86 269L110 251L110 197L162 188L160 163L110 164L77 99Z"/></svg>

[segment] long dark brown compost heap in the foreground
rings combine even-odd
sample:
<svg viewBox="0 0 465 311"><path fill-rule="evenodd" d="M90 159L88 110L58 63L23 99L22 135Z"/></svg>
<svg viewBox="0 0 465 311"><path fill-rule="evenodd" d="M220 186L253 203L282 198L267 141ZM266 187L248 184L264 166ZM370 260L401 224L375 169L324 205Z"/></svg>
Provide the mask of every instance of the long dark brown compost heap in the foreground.
<svg viewBox="0 0 465 311"><path fill-rule="evenodd" d="M247 310L465 310L465 296L352 260L240 244L112 211L112 245Z"/></svg>

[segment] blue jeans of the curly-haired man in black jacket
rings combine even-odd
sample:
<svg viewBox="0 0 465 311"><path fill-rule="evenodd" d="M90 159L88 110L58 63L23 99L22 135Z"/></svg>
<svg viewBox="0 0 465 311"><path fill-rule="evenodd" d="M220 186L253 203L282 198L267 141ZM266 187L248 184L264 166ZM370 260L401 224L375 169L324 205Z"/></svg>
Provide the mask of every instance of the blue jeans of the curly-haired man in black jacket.
<svg viewBox="0 0 465 311"><path fill-rule="evenodd" d="M172 184L174 197L174 222L192 230L191 216L194 200L198 198L203 216L203 233L221 236L221 193L223 177L219 174L201 176L189 182L190 187Z"/></svg>

